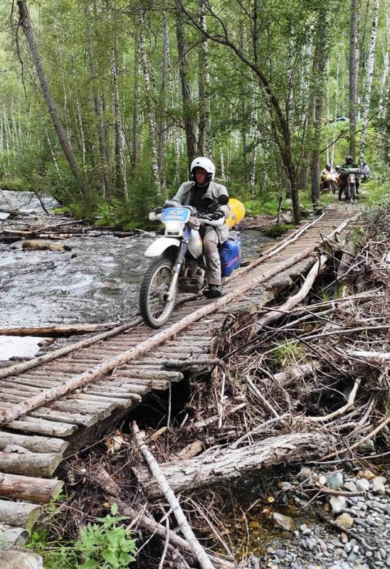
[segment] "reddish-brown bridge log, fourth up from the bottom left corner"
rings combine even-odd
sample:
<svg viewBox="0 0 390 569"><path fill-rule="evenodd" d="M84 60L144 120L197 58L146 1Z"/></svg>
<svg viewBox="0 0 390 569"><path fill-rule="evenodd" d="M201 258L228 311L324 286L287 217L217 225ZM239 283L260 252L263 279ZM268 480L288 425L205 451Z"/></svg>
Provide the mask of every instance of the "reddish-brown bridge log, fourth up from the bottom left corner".
<svg viewBox="0 0 390 569"><path fill-rule="evenodd" d="M6 498L49 504L60 494L62 487L63 482L60 480L0 472L0 496Z"/></svg>

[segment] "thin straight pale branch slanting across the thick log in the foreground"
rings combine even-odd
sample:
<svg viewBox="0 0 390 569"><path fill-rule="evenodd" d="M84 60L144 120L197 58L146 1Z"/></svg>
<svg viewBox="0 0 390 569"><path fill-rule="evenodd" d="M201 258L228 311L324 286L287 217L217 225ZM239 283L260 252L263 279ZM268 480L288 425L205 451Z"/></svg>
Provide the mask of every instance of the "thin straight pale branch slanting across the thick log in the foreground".
<svg viewBox="0 0 390 569"><path fill-rule="evenodd" d="M172 508L172 512L176 518L177 523L179 524L179 528L183 533L184 538L186 538L186 541L189 544L191 552L194 553L196 558L199 560L199 564L201 565L202 569L214 569L209 556L206 554L206 551L204 551L204 548L196 538L194 531L192 531L191 526L186 519L186 516L184 516L184 512L181 509L179 501L176 499L176 496L170 488L167 479L164 477L164 474L162 474L157 460L154 458L152 452L149 451L147 446L142 441L142 438L139 434L138 425L135 421L132 422L132 432L135 437L135 442L137 443L139 450L144 455L144 459L149 466L150 472L152 472L154 479L156 479L157 484L159 485L159 489L162 491L162 494L164 494L165 498L167 499L169 506Z"/></svg>

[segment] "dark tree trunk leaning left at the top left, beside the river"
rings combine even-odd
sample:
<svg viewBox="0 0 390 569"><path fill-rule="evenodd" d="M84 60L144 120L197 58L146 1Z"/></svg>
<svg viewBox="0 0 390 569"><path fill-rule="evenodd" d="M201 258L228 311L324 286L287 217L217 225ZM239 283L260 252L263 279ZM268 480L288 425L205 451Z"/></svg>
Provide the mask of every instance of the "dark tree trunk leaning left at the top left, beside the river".
<svg viewBox="0 0 390 569"><path fill-rule="evenodd" d="M31 19L28 14L26 2L18 0L18 8L19 8L19 22L21 27L23 28L23 33L26 36L26 40L28 42L28 48L30 50L31 58L36 68L36 73L38 75L39 82L41 83L43 97L45 97L46 105L48 107L48 112L51 116L51 121L53 122L53 127L56 130L56 134L58 136L58 140L60 141L60 145L63 149L63 153L65 154L65 157L68 160L70 170L72 171L73 176L75 176L75 179L80 184L81 193L87 195L88 194L87 183L83 177L82 172L80 171L77 160L75 159L75 155L73 154L73 150L71 149L68 139L65 135L63 126L60 122L60 117L58 116L56 105L54 104L53 97L51 96L51 92L48 88L46 75L43 70L43 65L38 52L38 46L36 44L36 39L33 33L33 26L31 24Z"/></svg>

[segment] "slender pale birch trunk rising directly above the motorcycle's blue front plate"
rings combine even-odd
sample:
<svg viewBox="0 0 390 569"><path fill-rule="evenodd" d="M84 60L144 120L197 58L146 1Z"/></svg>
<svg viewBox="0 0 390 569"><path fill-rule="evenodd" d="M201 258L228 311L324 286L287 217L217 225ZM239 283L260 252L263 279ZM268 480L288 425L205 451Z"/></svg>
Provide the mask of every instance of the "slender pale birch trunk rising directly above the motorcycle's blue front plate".
<svg viewBox="0 0 390 569"><path fill-rule="evenodd" d="M163 193L159 177L159 164L157 161L156 127L154 124L154 117L152 110L150 75L149 75L149 68L147 65L147 52L146 52L145 36L144 36L144 19L145 19L145 14L144 10L142 10L141 13L139 14L139 50L141 52L142 72L144 75L147 122L149 126L150 150L152 153L152 174L153 174L154 184L156 184L158 196L162 201Z"/></svg>

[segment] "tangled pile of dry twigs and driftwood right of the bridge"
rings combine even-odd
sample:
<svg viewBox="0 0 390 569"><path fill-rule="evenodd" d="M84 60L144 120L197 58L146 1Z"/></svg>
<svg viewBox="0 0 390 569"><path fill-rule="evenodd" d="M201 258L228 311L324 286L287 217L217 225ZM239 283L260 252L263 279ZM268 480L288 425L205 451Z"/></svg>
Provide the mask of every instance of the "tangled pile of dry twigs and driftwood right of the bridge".
<svg viewBox="0 0 390 569"><path fill-rule="evenodd" d="M347 247L324 245L334 272L301 304L285 309L289 304L278 301L245 321L227 317L215 354L223 365L191 380L184 409L167 405L159 430L145 428L139 445L154 454L204 545L214 543L213 566L238 566L222 514L232 484L282 463L359 462L389 452L389 222L389 213L376 213L352 231ZM273 321L265 318L270 313ZM162 537L157 550L139 541L154 556L149 567L194 567L189 542L170 533L177 528L172 506L130 433L105 443L89 464L78 458L68 465L70 488L83 482L70 533L100 514L103 491L132 516L133 527Z"/></svg>

